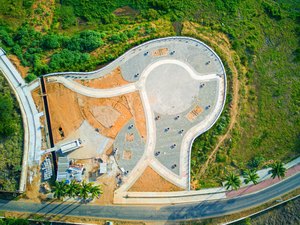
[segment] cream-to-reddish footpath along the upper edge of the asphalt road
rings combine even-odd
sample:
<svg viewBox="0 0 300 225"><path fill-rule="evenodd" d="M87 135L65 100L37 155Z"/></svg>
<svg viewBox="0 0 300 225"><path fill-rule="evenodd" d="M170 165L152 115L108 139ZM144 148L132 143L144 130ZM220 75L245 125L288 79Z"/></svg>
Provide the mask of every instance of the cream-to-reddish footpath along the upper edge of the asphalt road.
<svg viewBox="0 0 300 225"><path fill-rule="evenodd" d="M287 169L284 179L271 178L271 168L257 171L259 175L258 184L245 184L243 177L241 188L238 190L227 191L224 187L207 188L198 191L178 191L178 192L126 192L118 193L114 197L115 204L179 204L201 202L209 200L220 200L239 197L265 188L271 187L288 177L292 177L300 172L300 157L284 165Z"/></svg>

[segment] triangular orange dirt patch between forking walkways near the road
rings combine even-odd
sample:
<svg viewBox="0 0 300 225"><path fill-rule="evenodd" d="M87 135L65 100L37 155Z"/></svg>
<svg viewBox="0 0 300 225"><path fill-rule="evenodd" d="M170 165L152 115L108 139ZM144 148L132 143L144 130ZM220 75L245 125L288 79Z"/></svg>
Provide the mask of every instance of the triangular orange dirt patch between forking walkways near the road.
<svg viewBox="0 0 300 225"><path fill-rule="evenodd" d="M140 178L130 187L128 191L134 192L168 192L184 191L176 185L170 183L155 172L151 167L147 167Z"/></svg>

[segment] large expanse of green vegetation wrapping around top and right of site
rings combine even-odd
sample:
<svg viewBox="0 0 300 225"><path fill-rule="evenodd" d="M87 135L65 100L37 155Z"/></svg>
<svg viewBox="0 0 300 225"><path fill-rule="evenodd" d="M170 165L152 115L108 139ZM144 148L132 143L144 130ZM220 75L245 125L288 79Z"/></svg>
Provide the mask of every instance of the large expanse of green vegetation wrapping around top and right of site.
<svg viewBox="0 0 300 225"><path fill-rule="evenodd" d="M51 2L0 0L0 46L29 67L28 81L54 71L93 70L146 40L181 35L184 21L200 25L199 33L217 32L229 38L232 57L240 64L235 65L239 117L230 138L200 177L199 167L227 131L232 101L228 93L219 121L194 143L196 187L219 185L229 172L260 169L275 159L286 162L299 156L299 1ZM222 57L222 50L217 53ZM232 71L224 64L230 84Z"/></svg>

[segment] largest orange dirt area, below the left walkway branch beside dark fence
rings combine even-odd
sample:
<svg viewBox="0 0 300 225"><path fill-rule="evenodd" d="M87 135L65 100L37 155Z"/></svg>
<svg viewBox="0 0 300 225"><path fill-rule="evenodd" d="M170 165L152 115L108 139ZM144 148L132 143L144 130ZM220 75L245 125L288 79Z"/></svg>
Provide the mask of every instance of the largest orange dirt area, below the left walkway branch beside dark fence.
<svg viewBox="0 0 300 225"><path fill-rule="evenodd" d="M138 92L112 98L90 98L62 84L47 83L47 98L55 143L77 130L84 120L102 135L114 139L133 117L141 136L146 137L146 119ZM64 137L59 132L60 128Z"/></svg>

